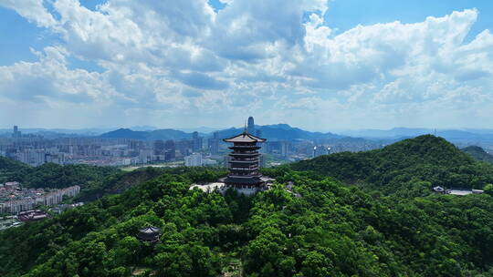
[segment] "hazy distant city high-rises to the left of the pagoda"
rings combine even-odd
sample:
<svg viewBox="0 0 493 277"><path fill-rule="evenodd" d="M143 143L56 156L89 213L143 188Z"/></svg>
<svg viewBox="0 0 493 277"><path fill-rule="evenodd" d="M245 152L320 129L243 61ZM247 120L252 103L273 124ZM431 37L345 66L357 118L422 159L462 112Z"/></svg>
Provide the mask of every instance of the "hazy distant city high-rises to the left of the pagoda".
<svg viewBox="0 0 493 277"><path fill-rule="evenodd" d="M21 135L18 127L12 136L0 138L0 156L22 161L31 166L47 162L58 164L90 164L128 166L149 163L184 161L185 157L201 154L200 165L216 165L220 156L219 133L212 138L194 132L191 139L106 139L58 138ZM217 156L217 157L215 157Z"/></svg>

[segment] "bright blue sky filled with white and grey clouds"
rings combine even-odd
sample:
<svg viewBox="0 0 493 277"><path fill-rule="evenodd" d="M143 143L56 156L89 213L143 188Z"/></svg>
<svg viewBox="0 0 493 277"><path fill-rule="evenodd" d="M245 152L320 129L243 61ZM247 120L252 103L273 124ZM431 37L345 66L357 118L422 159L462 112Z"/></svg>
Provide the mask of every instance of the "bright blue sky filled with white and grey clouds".
<svg viewBox="0 0 493 277"><path fill-rule="evenodd" d="M0 128L493 128L493 2L0 0Z"/></svg>

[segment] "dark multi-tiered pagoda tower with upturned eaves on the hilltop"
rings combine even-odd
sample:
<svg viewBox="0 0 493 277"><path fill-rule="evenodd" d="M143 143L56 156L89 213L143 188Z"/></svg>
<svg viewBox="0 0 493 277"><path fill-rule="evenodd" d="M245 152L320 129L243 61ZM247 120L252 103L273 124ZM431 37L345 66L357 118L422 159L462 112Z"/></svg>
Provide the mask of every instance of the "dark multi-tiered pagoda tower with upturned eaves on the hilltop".
<svg viewBox="0 0 493 277"><path fill-rule="evenodd" d="M247 128L243 133L230 138L223 139L232 142L229 147L233 151L229 153L228 169L229 174L225 181L226 186L234 187L236 190L242 189L261 189L265 183L259 171L260 146L257 142L264 142L267 139L260 139L249 134Z"/></svg>

